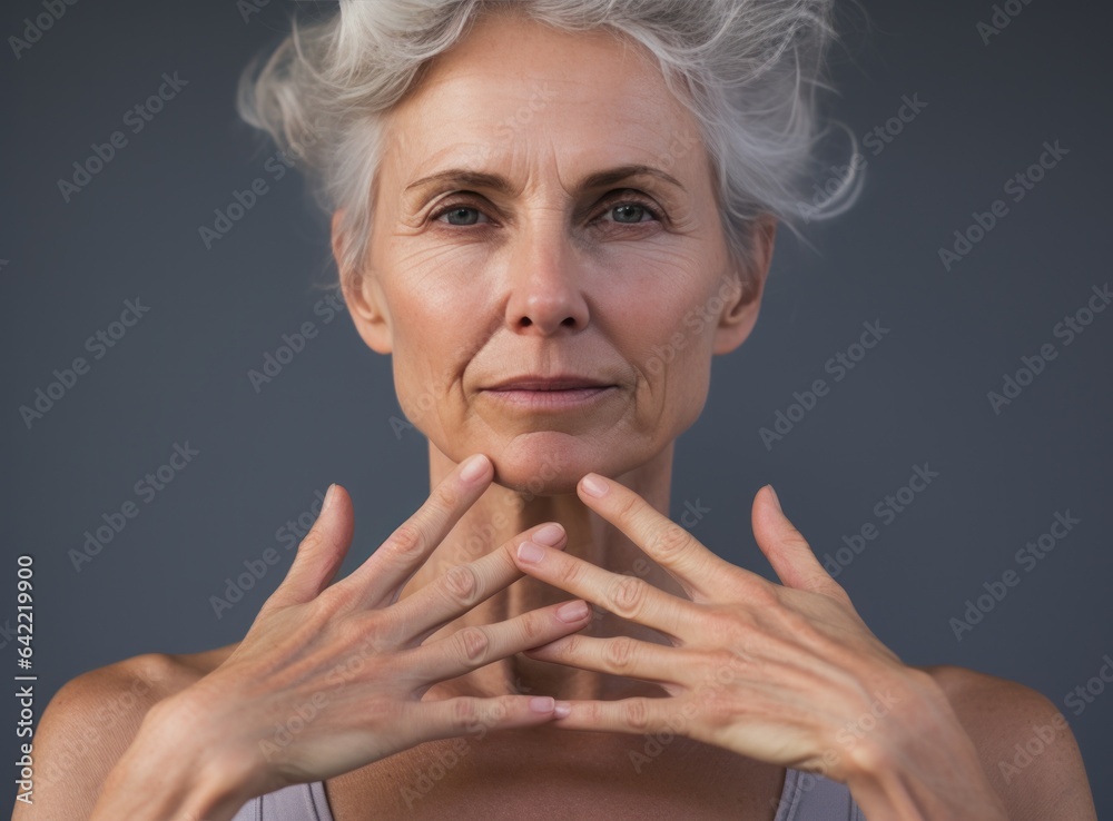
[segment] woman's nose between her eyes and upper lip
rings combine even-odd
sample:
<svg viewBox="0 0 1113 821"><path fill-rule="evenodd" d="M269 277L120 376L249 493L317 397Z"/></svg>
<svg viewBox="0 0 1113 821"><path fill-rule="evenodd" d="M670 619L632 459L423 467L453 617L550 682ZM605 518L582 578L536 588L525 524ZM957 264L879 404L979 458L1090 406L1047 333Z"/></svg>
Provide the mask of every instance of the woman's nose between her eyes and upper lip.
<svg viewBox="0 0 1113 821"><path fill-rule="evenodd" d="M584 271L560 218L534 222L512 241L508 327L540 336L585 328Z"/></svg>

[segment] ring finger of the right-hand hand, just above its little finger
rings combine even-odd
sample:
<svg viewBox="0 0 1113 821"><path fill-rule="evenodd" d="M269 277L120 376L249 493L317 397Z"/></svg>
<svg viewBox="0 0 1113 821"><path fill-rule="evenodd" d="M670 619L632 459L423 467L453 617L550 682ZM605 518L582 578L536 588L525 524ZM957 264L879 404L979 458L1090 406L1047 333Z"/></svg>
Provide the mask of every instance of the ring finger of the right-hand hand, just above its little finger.
<svg viewBox="0 0 1113 821"><path fill-rule="evenodd" d="M628 635L595 639L579 633L524 651L531 659L597 673L612 673L659 684L680 684L688 669L683 650L643 642Z"/></svg>

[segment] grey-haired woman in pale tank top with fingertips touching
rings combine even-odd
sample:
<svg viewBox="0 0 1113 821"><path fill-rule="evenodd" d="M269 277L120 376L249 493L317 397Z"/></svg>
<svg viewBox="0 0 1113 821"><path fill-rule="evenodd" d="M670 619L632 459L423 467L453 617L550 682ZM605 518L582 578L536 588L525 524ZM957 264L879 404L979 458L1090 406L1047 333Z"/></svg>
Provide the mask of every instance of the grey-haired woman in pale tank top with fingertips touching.
<svg viewBox="0 0 1113 821"><path fill-rule="evenodd" d="M1052 704L902 663L771 487L781 584L666 515L808 167L828 14L352 0L252 75L252 121L318 172L431 496L334 582L332 486L240 643L63 689L40 762L154 682L16 817L1095 818L1068 729L999 766Z"/></svg>

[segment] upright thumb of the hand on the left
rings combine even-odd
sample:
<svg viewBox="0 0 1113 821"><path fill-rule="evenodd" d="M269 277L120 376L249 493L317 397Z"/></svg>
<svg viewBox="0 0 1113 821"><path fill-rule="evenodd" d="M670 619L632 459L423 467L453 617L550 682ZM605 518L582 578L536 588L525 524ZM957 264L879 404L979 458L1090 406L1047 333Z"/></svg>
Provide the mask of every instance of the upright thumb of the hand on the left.
<svg viewBox="0 0 1113 821"><path fill-rule="evenodd" d="M297 546L286 577L267 605L301 604L316 599L344 563L354 527L352 497L339 485L329 485L317 521Z"/></svg>

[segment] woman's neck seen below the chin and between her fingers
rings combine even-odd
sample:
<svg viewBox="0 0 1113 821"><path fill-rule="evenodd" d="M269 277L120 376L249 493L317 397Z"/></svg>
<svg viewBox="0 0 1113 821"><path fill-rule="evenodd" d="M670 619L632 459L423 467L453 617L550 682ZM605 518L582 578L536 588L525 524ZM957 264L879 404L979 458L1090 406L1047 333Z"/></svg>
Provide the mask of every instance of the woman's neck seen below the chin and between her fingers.
<svg viewBox="0 0 1113 821"><path fill-rule="evenodd" d="M633 471L608 477L631 488L654 510L668 516L672 453L673 445L670 443L650 462ZM495 464L498 469L498 462ZM452 459L430 443L431 488L455 466ZM499 550L522 531L543 522L558 522L564 527L568 533L564 552L569 555L578 556L612 573L637 575L656 587L683 597L680 585L660 565L650 560L621 531L584 505L574 491L534 495L496 483L492 483L483 496L463 514L449 536L403 588L402 597L436 581L450 567L473 562L486 553ZM516 548L516 542L513 546ZM523 576L444 625L427 641L437 641L464 626L505 621L536 607L575 597L559 587ZM592 604L590 600L588 603ZM580 631L582 635L629 635L662 644L668 642L657 631L617 619L599 607L593 610L595 617ZM658 692L656 685L644 682L534 661L520 653L457 679L442 682L435 685L434 690L443 698L516 692L552 695L558 699L602 699Z"/></svg>

